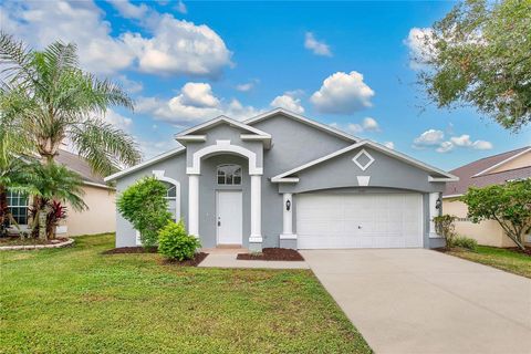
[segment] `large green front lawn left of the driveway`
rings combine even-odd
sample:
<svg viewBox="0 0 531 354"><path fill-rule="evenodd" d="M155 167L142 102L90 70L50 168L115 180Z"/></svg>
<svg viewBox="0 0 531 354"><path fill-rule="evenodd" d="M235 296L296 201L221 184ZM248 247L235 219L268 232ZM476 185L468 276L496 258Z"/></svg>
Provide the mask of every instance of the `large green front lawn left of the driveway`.
<svg viewBox="0 0 531 354"><path fill-rule="evenodd" d="M0 252L0 353L371 353L308 270L101 254L113 243Z"/></svg>

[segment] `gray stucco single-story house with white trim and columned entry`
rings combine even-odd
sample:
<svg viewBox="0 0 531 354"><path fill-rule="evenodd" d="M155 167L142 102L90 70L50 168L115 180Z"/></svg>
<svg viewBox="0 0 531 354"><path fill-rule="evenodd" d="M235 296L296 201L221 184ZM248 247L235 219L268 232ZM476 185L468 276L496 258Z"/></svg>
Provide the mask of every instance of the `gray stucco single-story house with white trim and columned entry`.
<svg viewBox="0 0 531 354"><path fill-rule="evenodd" d="M434 248L431 218L457 177L282 108L181 132L183 145L105 180L168 186L175 219L205 248ZM138 244L117 214L116 247Z"/></svg>

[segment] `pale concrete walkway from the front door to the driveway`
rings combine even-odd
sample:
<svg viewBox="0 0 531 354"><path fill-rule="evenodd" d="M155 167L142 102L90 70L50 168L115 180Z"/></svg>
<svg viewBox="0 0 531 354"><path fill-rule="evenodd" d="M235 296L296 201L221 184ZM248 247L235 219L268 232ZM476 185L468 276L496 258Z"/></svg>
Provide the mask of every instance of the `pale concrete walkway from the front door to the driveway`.
<svg viewBox="0 0 531 354"><path fill-rule="evenodd" d="M211 268L263 268L263 269L309 269L306 262L292 261L243 261L237 260L236 253L209 253L198 267Z"/></svg>

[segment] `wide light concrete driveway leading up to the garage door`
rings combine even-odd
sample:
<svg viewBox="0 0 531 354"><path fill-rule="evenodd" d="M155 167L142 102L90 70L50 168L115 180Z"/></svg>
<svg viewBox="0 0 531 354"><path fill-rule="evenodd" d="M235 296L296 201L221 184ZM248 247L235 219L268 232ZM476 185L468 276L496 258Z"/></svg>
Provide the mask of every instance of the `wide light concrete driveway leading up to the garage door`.
<svg viewBox="0 0 531 354"><path fill-rule="evenodd" d="M301 251L376 353L531 353L531 280L424 249Z"/></svg>

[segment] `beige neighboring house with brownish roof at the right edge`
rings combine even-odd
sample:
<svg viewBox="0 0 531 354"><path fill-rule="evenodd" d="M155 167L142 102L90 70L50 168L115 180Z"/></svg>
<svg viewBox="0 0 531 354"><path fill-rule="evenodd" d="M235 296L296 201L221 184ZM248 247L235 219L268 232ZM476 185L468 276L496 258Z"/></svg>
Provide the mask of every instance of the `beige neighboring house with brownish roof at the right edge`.
<svg viewBox="0 0 531 354"><path fill-rule="evenodd" d="M486 187L504 184L508 180L531 178L531 146L512 152L486 157L461 166L450 171L459 177L458 181L447 184L442 195L445 214L457 216L456 232L471 237L480 244L496 247L516 246L497 221L486 220L472 223L467 218L467 205L458 198L467 192L469 187ZM531 239L528 237L528 242Z"/></svg>

